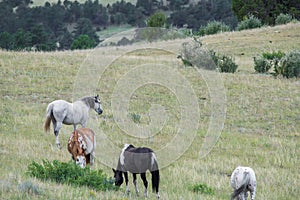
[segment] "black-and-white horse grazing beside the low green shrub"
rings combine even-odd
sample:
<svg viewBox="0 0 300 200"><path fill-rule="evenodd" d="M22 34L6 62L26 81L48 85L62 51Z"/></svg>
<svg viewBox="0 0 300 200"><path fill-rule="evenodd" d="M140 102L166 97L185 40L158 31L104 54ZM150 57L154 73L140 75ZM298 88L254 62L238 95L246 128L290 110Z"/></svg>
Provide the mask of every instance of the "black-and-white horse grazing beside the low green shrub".
<svg viewBox="0 0 300 200"><path fill-rule="evenodd" d="M148 181L146 178L146 171L149 170L152 175L152 190L156 192L156 196L159 199L159 169L155 153L152 149L147 147L134 147L131 144L125 144L121 151L118 165L116 169L112 169L114 172L115 185L120 187L123 183L123 174L126 183L126 193L129 192L128 187L128 171L133 175L133 184L135 186L135 192L138 196L139 190L137 187L136 175L140 174L144 183L144 196L147 197Z"/></svg>

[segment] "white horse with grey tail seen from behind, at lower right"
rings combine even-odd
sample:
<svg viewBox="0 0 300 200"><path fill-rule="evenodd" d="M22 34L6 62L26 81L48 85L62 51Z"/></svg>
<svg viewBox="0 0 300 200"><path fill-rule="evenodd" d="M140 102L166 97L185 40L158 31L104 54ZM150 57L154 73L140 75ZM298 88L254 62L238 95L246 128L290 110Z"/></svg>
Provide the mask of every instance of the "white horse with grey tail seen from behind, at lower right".
<svg viewBox="0 0 300 200"><path fill-rule="evenodd" d="M231 174L230 178L233 193L231 200L247 200L248 192L250 192L251 200L255 198L256 177L252 168L238 166Z"/></svg>

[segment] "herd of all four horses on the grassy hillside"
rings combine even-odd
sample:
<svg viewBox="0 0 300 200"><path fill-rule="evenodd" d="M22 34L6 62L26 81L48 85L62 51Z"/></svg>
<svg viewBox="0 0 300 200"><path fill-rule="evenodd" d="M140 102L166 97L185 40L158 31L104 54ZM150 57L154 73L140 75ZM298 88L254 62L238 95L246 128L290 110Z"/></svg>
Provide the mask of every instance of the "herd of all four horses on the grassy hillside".
<svg viewBox="0 0 300 200"><path fill-rule="evenodd" d="M54 135L56 137L56 145L61 148L59 142L59 131L62 124L73 125L74 131L71 133L68 141L68 151L72 155L72 159L84 168L87 164L93 166L96 148L96 136L93 130L86 128L88 121L88 112L94 109L99 115L103 109L99 95L82 97L81 99L70 103L65 100L55 100L48 104L46 110L46 121L44 125L45 131L50 130L50 124L53 124ZM80 124L82 128L76 128ZM134 147L132 144L125 144L122 149L116 169L114 172L114 180L116 186L121 186L125 178L126 192L129 191L128 172L133 175L133 184L136 194L139 190L137 187L136 176L140 174L144 183L144 195L147 196L148 181L146 179L146 171L150 171L152 175L152 189L156 192L159 199L159 167L154 151L147 147ZM248 192L250 192L251 200L255 198L256 177L252 168L238 166L230 178L233 193L231 200L246 200Z"/></svg>

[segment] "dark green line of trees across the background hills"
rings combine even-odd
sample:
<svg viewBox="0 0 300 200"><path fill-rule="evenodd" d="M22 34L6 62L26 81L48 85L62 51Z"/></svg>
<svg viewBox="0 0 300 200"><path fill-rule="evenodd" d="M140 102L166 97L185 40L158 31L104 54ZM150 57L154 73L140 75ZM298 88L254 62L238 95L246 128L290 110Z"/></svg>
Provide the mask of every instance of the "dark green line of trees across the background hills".
<svg viewBox="0 0 300 200"><path fill-rule="evenodd" d="M7 50L34 48L42 51L92 48L102 40L97 35L98 31L121 24L146 27L149 26L147 19L158 11L165 13L169 26L198 31L201 26L215 20L234 28L238 19L248 14L246 11L256 15L262 11L255 10L255 5L258 5L258 2L269 1L250 0L248 3L241 3L240 0L203 0L193 3L194 1L190 0L167 0L167 4L163 2L137 0L133 5L121 0L104 6L99 0L87 0L84 3L58 0L53 4L46 2L44 6L32 6L32 0L2 0L0 48ZM276 0L276 2L283 2L274 4L276 12L281 9L293 12L293 15L299 17L299 3L287 3L296 1ZM266 6L268 5L264 8ZM273 3L270 3L270 6L272 7ZM288 6L292 8L288 9ZM266 22L272 21L269 20L270 15L260 15L264 16Z"/></svg>

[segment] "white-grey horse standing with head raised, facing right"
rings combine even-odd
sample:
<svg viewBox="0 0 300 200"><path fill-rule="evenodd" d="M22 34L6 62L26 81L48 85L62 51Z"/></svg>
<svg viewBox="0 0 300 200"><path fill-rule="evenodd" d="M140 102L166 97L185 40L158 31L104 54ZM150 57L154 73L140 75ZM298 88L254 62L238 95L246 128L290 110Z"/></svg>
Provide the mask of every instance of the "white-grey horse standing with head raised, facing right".
<svg viewBox="0 0 300 200"><path fill-rule="evenodd" d="M52 121L56 145L60 147L58 135L62 124L73 124L74 130L76 130L77 124L85 127L90 109L94 109L99 115L103 112L99 95L83 97L73 103L64 100L52 101L49 103L46 111L45 132L50 130L50 123Z"/></svg>

